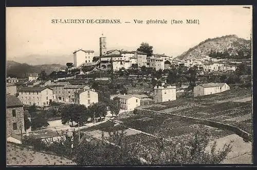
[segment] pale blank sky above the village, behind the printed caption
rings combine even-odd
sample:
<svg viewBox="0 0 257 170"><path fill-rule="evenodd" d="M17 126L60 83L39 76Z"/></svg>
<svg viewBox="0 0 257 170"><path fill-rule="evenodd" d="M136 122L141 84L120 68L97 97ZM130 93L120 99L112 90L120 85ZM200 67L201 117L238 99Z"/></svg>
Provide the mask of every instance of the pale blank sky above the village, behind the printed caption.
<svg viewBox="0 0 257 170"><path fill-rule="evenodd" d="M120 19L121 24L52 24L51 19ZM144 23L133 24L133 19ZM146 25L150 19L168 24ZM184 23L172 25L171 19ZM185 24L186 19L198 19L199 25ZM148 42L154 53L177 56L207 38L235 34L250 39L251 20L251 6L8 7L7 59L72 55L78 49L99 55L101 34L108 49L136 50Z"/></svg>

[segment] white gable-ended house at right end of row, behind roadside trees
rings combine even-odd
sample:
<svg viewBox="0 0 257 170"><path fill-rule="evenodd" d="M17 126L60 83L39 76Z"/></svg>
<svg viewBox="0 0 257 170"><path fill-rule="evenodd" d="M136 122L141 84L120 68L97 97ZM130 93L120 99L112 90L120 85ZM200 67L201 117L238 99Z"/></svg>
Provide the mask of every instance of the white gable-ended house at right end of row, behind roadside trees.
<svg viewBox="0 0 257 170"><path fill-rule="evenodd" d="M81 89L74 93L75 103L88 107L98 102L98 93L94 89Z"/></svg>

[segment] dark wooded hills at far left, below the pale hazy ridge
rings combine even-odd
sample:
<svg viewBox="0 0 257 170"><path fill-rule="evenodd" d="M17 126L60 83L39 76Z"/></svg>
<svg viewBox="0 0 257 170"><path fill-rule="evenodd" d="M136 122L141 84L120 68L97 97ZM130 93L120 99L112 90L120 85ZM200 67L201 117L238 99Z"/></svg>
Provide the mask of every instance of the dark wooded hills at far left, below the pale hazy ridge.
<svg viewBox="0 0 257 170"><path fill-rule="evenodd" d="M26 63L19 63L15 61L6 61L6 76L24 78L28 76L29 73L41 73L45 71L48 75L53 71L59 71L59 69L64 69L66 66L59 64L51 65L35 65L31 66Z"/></svg>

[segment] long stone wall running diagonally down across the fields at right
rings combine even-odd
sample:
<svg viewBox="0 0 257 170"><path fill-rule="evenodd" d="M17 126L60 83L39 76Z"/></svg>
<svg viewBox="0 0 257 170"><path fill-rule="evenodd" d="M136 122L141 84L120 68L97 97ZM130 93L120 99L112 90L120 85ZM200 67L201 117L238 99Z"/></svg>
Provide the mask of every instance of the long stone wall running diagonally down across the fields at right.
<svg viewBox="0 0 257 170"><path fill-rule="evenodd" d="M234 132L236 135L241 136L243 139L247 140L247 141L252 141L252 135L245 132L244 130L230 125L230 124L224 124L221 122L215 122L215 121L211 121L211 120L207 120L207 119L199 119L199 118L194 118L194 117L188 117L188 116L180 116L180 115L174 115L174 114L169 114L169 113L165 113L165 112L160 112L160 111L151 111L151 110L145 110L145 109L137 109L135 108L134 110L135 114L143 114L143 115L149 115L149 114L154 114L154 115L161 115L161 114L167 114L172 116L176 116L176 117L182 117L185 118L187 120L193 121L194 123L200 123L200 124L205 124L205 125L209 125L212 126L214 128L219 128L222 130L228 130L231 132Z"/></svg>

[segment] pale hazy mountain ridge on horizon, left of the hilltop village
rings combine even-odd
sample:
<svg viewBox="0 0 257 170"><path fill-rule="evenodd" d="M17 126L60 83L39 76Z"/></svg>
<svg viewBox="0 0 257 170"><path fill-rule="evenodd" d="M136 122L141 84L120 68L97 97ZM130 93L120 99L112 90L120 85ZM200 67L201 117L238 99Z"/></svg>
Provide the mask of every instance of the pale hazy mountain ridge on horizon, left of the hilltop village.
<svg viewBox="0 0 257 170"><path fill-rule="evenodd" d="M41 64L60 64L66 65L67 62L73 62L73 54L70 55L28 55L20 57L10 57L8 60L13 60L20 63L27 63L28 65Z"/></svg>

